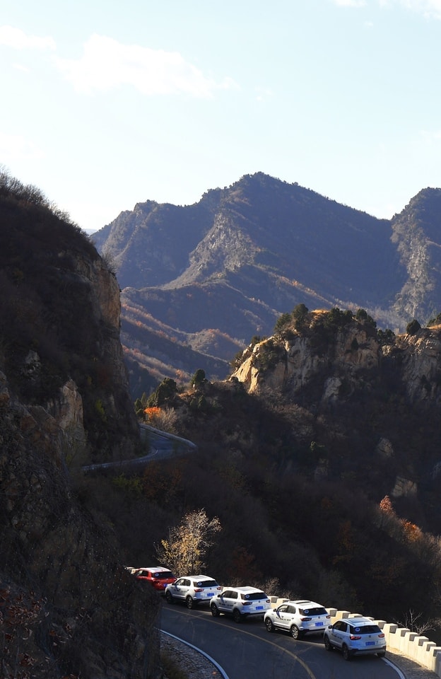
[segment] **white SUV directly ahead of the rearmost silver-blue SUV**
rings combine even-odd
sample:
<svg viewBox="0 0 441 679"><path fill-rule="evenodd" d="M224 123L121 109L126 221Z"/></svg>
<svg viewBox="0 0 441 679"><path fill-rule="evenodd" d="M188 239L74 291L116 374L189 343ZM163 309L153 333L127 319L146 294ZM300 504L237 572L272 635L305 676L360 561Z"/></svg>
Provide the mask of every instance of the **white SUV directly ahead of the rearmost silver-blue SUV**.
<svg viewBox="0 0 441 679"><path fill-rule="evenodd" d="M266 611L264 623L269 632L285 629L293 639L301 639L307 632L323 634L331 616L326 608L309 600L285 601L277 608Z"/></svg>

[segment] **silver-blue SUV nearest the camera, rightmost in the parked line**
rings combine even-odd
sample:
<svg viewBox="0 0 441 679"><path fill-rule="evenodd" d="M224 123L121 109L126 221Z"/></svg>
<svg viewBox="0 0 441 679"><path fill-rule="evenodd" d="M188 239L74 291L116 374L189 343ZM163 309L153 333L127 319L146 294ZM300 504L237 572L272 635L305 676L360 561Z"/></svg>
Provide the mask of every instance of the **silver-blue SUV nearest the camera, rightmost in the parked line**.
<svg viewBox="0 0 441 679"><path fill-rule="evenodd" d="M346 617L329 625L324 632L327 651L340 649L345 660L358 654L377 654L384 658L386 639L380 627L369 617Z"/></svg>

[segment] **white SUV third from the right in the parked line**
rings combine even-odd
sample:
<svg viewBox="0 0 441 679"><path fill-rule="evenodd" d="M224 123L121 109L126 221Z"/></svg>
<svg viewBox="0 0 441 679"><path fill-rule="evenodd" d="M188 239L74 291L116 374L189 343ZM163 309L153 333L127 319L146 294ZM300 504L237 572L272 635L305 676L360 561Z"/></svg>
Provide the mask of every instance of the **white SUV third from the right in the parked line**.
<svg viewBox="0 0 441 679"><path fill-rule="evenodd" d="M241 622L249 615L264 617L271 603L266 594L256 587L225 587L213 596L210 608L213 617L229 613L235 622Z"/></svg>

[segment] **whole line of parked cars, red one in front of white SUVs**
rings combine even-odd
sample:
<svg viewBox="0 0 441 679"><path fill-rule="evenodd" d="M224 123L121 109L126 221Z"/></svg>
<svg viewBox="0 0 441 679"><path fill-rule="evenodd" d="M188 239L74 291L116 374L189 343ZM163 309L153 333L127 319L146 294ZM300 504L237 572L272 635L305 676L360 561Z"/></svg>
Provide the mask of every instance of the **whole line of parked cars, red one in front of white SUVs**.
<svg viewBox="0 0 441 679"><path fill-rule="evenodd" d="M345 660L359 654L376 654L384 658L386 653L384 634L369 617L344 618L330 625L328 611L314 601L287 600L272 608L266 593L256 587L222 587L216 579L206 575L176 578L169 569L160 566L129 570L140 581L150 582L163 593L168 603L182 601L187 608L208 603L213 617L223 613L231 615L235 622L261 617L268 632L280 629L293 639L302 639L306 634L322 634L325 649L339 649Z"/></svg>

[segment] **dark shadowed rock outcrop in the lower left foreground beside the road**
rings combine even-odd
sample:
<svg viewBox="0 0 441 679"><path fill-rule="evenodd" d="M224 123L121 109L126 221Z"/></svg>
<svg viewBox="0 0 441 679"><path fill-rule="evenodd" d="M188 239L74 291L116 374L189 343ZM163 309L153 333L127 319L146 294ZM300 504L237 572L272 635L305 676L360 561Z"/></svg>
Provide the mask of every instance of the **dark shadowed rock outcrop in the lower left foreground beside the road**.
<svg viewBox="0 0 441 679"><path fill-rule="evenodd" d="M158 598L73 497L60 445L68 409L56 419L20 404L4 373L0 384L1 676L20 666L23 678L157 676Z"/></svg>

